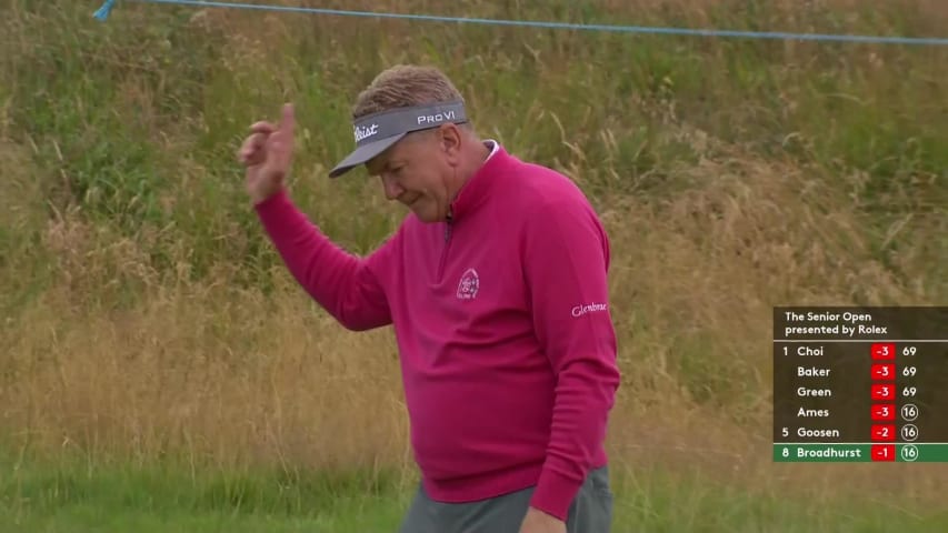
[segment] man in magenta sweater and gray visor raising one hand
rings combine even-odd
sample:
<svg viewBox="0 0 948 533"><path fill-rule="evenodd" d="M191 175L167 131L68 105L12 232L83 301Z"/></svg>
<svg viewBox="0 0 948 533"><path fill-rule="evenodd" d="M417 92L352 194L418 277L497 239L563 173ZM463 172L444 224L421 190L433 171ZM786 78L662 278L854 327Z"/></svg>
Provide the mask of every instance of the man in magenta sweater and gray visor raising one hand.
<svg viewBox="0 0 948 533"><path fill-rule="evenodd" d="M295 118L240 149L247 190L302 288L343 326L392 324L422 482L401 533L607 533L603 440L619 384L609 243L579 189L481 140L432 68L379 74L353 107L356 149L410 213L367 258L293 205Z"/></svg>

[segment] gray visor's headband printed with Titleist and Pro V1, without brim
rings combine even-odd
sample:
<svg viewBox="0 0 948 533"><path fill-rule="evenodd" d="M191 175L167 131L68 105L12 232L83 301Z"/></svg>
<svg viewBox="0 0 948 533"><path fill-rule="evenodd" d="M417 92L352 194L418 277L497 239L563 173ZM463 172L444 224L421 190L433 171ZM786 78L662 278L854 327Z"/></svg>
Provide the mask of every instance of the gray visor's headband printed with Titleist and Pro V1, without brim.
<svg viewBox="0 0 948 533"><path fill-rule="evenodd" d="M433 128L446 122L467 122L463 102L446 102L397 108L356 120L352 124L357 144L377 139Z"/></svg>

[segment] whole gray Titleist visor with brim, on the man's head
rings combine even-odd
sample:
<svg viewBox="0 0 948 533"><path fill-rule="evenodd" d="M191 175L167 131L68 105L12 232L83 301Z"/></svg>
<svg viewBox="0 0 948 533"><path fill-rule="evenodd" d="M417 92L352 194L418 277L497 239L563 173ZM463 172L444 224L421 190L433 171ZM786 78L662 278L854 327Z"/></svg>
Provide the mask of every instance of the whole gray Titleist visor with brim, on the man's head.
<svg viewBox="0 0 948 533"><path fill-rule="evenodd" d="M460 101L396 108L360 117L353 124L356 150L337 164L329 172L329 177L338 178L365 164L409 132L427 130L447 122L460 124L467 120L465 104Z"/></svg>

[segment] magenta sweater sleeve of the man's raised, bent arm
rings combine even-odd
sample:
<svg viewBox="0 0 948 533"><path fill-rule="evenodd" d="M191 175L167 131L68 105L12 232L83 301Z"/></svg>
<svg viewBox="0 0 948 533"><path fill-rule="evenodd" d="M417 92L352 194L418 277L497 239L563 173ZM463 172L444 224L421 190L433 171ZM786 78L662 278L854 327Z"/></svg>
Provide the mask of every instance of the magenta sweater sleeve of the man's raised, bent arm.
<svg viewBox="0 0 948 533"><path fill-rule="evenodd" d="M255 209L289 271L339 323L355 331L391 323L379 274L387 268L393 241L360 259L333 244L286 191Z"/></svg>

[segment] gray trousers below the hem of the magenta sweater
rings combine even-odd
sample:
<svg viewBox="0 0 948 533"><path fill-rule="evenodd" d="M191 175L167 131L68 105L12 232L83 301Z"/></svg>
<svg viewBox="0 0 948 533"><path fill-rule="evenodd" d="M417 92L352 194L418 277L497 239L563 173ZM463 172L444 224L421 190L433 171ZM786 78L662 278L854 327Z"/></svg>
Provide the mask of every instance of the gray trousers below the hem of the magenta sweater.
<svg viewBox="0 0 948 533"><path fill-rule="evenodd" d="M440 503L419 486L399 533L518 533L533 489L470 503ZM569 507L568 533L609 533L612 491L607 466L589 472Z"/></svg>

